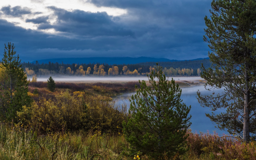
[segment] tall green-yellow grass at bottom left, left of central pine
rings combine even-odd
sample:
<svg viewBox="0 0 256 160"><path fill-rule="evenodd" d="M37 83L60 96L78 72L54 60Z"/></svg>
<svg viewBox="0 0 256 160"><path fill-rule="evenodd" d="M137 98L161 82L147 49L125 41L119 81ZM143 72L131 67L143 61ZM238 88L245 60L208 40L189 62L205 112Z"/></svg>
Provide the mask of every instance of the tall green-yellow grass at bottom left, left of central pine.
<svg viewBox="0 0 256 160"><path fill-rule="evenodd" d="M19 126L0 125L1 159L127 159L123 136L78 131L37 136Z"/></svg>

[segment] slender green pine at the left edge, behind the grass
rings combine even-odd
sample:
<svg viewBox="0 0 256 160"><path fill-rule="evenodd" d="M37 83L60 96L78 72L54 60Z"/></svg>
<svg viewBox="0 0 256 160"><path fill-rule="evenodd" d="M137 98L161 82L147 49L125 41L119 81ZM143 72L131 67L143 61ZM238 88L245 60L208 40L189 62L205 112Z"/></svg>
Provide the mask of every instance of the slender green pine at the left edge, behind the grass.
<svg viewBox="0 0 256 160"><path fill-rule="evenodd" d="M28 82L26 73L20 65L19 55L15 57L14 44L5 45L2 66L4 69L5 81L1 85L1 105L2 116L9 121L17 122L16 113L22 109L22 106L30 106L32 100L27 94Z"/></svg>

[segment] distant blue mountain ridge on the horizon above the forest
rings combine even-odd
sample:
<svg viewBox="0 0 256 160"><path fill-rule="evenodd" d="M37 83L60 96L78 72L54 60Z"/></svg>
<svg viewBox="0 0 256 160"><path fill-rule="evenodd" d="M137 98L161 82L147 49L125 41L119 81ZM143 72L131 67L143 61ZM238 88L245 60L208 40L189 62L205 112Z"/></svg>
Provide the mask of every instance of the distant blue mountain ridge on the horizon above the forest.
<svg viewBox="0 0 256 160"><path fill-rule="evenodd" d="M198 58L194 60L202 60L204 58ZM143 62L177 62L177 61L185 61L185 60L170 60L167 58L152 58L152 57L87 57L87 58L53 58L53 59L45 59L45 60L37 60L38 63L64 63L64 64L89 64L89 63L107 63L110 65L113 64L137 64ZM32 63L36 63L33 61Z"/></svg>

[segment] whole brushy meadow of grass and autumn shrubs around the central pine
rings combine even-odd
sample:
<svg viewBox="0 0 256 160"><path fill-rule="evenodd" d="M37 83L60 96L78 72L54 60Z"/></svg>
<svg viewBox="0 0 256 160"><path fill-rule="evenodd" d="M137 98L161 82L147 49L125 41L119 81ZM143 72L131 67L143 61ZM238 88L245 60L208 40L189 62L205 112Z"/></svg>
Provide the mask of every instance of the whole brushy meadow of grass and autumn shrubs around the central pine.
<svg viewBox="0 0 256 160"><path fill-rule="evenodd" d="M30 82L33 105L23 106L17 123L0 124L1 159L150 159L131 152L122 133L129 106L111 98L134 92L135 85L139 83L56 82L50 92L46 82ZM187 134L186 153L164 159L256 159L255 141L191 130Z"/></svg>

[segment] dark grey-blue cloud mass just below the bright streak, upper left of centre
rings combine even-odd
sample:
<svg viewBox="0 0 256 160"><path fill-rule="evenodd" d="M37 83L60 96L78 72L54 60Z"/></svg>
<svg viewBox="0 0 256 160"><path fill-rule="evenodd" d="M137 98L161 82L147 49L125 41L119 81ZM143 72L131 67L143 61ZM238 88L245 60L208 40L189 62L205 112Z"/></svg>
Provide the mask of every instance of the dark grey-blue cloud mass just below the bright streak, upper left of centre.
<svg viewBox="0 0 256 160"><path fill-rule="evenodd" d="M106 12L85 12L81 10L66 11L61 8L48 7L54 11L57 21L53 25L42 24L39 29L53 28L56 31L72 33L79 36L131 36L133 32L111 20Z"/></svg>

